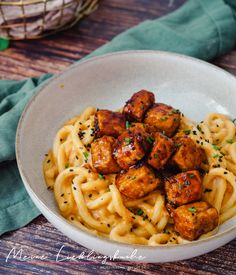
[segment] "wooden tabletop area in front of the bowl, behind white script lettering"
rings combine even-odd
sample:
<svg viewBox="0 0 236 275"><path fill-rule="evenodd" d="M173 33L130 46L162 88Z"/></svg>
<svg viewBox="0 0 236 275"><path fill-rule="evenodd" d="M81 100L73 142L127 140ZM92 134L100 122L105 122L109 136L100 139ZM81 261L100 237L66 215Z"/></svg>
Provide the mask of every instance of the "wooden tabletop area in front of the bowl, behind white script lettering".
<svg viewBox="0 0 236 275"><path fill-rule="evenodd" d="M111 274L119 272L119 274L235 274L236 265L236 240L230 242L222 248L215 250L203 256L193 258L191 260L180 261L175 263L164 264L133 264L107 261L102 264L102 260L91 261L82 259L79 263L71 263L69 261L57 263L56 255L60 248L64 245L60 258L66 256L79 256L82 251L88 255L91 251L76 244L57 229L55 229L42 216L35 219L28 226L7 233L3 236L0 248L0 270L9 271L17 269L15 274L25 274L29 270L37 270L44 272L52 272L54 270L65 272L64 274ZM6 257L12 248L16 251L22 249L22 256L43 256L45 260L33 259L32 261L21 262L9 258L6 263ZM94 253L93 255L98 255ZM223 259L223 260L222 260Z"/></svg>

